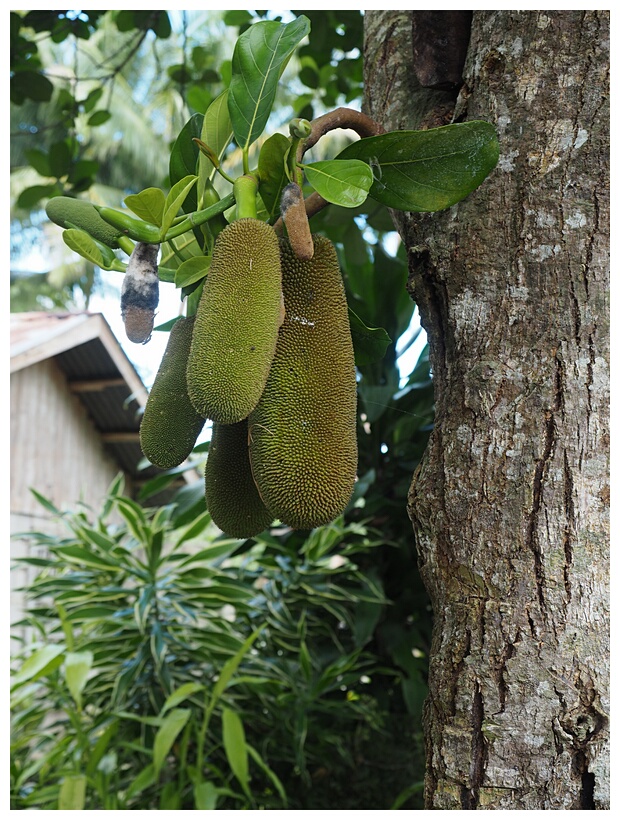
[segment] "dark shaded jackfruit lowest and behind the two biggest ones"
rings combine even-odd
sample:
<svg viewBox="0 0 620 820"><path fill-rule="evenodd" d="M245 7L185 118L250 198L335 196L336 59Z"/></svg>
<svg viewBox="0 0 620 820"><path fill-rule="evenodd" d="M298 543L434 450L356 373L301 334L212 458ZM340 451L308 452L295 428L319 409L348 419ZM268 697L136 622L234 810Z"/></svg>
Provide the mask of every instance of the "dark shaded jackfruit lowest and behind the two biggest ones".
<svg viewBox="0 0 620 820"><path fill-rule="evenodd" d="M215 524L233 538L252 538L273 521L252 478L247 419L236 424L214 422L205 466L205 501Z"/></svg>

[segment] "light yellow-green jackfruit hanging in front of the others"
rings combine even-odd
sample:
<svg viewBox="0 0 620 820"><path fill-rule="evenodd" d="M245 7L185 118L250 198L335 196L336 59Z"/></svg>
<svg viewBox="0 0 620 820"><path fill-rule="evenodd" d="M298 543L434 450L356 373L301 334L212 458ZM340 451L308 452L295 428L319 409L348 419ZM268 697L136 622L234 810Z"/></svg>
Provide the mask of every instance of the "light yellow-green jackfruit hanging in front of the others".
<svg viewBox="0 0 620 820"><path fill-rule="evenodd" d="M218 234L187 363L190 399L206 418L234 424L256 406L278 338L281 285L270 225L239 219Z"/></svg>

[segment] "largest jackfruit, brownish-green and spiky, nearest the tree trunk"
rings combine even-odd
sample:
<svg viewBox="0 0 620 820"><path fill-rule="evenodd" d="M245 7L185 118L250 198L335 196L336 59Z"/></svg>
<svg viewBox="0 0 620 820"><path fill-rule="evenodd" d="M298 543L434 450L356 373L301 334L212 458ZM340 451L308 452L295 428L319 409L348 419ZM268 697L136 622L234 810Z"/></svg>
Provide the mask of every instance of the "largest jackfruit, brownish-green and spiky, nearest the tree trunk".
<svg viewBox="0 0 620 820"><path fill-rule="evenodd" d="M286 317L265 390L248 419L250 464L265 505L295 529L340 515L357 469L357 387L336 250L314 236L298 259L282 240Z"/></svg>

